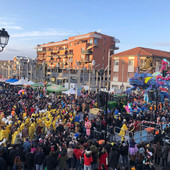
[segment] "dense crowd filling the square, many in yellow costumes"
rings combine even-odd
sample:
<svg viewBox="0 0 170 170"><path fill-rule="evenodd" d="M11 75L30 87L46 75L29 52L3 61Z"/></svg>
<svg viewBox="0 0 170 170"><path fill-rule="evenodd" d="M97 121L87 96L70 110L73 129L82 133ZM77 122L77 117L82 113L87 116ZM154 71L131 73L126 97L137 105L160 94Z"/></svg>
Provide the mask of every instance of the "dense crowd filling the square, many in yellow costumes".
<svg viewBox="0 0 170 170"><path fill-rule="evenodd" d="M76 99L42 88L27 86L18 93L20 89L5 85L0 92L0 170L153 170L168 165L170 145L163 141L170 133L168 100L155 109L141 95L131 94L132 113L117 107L92 116L90 108L98 106L94 93ZM133 135L127 140L126 130L140 131L143 120L167 126L160 126L150 143L137 144ZM120 128L121 140L114 140L114 127Z"/></svg>

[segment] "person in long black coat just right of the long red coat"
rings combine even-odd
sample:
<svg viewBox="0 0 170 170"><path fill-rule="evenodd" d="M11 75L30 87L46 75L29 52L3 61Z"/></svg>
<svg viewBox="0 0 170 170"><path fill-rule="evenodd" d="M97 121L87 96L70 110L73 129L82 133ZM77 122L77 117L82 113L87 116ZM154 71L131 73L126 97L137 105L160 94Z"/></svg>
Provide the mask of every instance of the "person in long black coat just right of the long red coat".
<svg viewBox="0 0 170 170"><path fill-rule="evenodd" d="M112 146L112 149L109 153L109 167L116 169L119 162L119 152L115 146Z"/></svg>

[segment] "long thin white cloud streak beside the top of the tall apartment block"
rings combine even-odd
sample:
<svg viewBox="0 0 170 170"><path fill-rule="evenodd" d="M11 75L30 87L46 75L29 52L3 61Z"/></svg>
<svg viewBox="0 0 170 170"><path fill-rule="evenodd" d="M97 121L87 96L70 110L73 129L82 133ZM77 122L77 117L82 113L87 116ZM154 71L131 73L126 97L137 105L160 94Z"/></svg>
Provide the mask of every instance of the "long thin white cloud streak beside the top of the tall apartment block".
<svg viewBox="0 0 170 170"><path fill-rule="evenodd" d="M54 29L48 29L45 31L30 31L30 32L23 32L18 34L11 35L12 37L16 38L23 38L23 37L42 37L42 36L67 36L73 34L71 31L58 31Z"/></svg>

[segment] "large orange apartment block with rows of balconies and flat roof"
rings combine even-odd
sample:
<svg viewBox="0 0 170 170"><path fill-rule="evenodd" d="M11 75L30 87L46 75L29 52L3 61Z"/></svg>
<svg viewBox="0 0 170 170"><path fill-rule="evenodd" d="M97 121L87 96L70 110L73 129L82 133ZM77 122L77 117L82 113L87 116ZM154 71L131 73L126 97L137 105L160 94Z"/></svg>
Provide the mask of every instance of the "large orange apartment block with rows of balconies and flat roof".
<svg viewBox="0 0 170 170"><path fill-rule="evenodd" d="M118 49L116 42L119 40L112 36L91 32L59 42L37 45L37 65L45 62L52 70L56 67L61 70L69 67L71 70L78 67L89 70L92 69L92 60L95 60L95 65L100 65L93 69L105 68L108 63L108 51L114 54L114 50Z"/></svg>

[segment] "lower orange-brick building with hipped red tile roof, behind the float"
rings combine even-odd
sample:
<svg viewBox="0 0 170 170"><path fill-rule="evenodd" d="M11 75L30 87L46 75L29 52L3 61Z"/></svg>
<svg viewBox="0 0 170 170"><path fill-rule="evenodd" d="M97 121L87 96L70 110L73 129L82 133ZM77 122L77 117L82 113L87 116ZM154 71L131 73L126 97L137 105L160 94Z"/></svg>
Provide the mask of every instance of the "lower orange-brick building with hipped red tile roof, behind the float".
<svg viewBox="0 0 170 170"><path fill-rule="evenodd" d="M111 56L110 88L126 90L130 87L129 78L134 76L137 68L146 66L146 58L152 58L153 72L160 70L163 58L170 60L170 52L136 47Z"/></svg>

